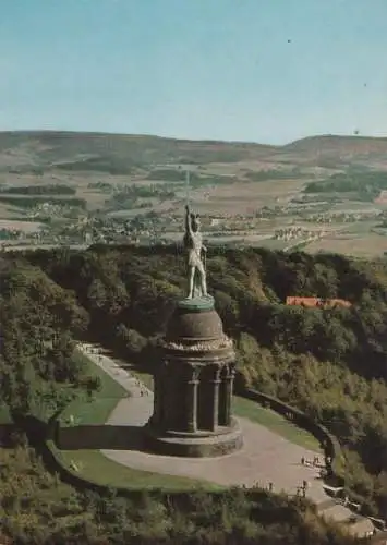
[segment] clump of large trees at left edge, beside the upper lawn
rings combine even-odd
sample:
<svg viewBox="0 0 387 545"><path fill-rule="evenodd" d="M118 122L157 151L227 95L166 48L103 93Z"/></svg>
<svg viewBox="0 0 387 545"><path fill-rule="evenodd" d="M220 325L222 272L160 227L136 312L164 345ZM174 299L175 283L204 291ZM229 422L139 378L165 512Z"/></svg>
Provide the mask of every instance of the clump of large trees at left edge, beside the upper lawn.
<svg viewBox="0 0 387 545"><path fill-rule="evenodd" d="M2 259L1 403L14 415L45 420L64 407L87 377L72 358L73 335L87 329L87 313L37 267Z"/></svg>

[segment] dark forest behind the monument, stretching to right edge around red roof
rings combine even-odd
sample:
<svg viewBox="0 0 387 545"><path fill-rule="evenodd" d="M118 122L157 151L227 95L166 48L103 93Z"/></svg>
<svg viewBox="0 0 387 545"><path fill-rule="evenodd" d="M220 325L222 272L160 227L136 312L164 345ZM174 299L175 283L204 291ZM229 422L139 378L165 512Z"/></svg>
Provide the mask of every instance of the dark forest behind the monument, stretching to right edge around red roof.
<svg viewBox="0 0 387 545"><path fill-rule="evenodd" d="M95 247L35 253L34 264L73 290L89 332L152 363L184 288L172 249ZM235 339L239 379L325 424L344 447L346 484L387 517L387 264L339 255L214 250L209 288ZM339 298L350 308L303 308L287 295Z"/></svg>

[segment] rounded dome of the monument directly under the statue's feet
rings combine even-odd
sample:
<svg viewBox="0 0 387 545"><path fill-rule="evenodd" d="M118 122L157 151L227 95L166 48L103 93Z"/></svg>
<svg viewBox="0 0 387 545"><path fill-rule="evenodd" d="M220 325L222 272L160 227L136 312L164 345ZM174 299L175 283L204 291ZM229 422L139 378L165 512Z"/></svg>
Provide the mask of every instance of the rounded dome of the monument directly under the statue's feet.
<svg viewBox="0 0 387 545"><path fill-rule="evenodd" d="M167 325L167 341L206 341L225 337L223 325L214 304L204 307L190 307L178 304Z"/></svg>

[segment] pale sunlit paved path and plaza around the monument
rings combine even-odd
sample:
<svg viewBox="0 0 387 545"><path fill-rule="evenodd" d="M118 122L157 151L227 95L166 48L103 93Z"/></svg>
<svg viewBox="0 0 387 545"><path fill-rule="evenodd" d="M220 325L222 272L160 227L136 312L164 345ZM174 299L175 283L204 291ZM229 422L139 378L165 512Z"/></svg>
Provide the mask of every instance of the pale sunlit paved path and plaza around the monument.
<svg viewBox="0 0 387 545"><path fill-rule="evenodd" d="M153 412L153 392L123 370L119 361L105 355L101 349L86 343L78 347L96 365L131 393L131 397L119 401L107 424L143 426ZM295 495L303 481L307 481L306 496L317 505L321 514L347 523L349 531L360 536L373 531L374 526L368 519L361 516L353 517L350 509L327 495L317 468L301 463L302 457L312 460L316 452L294 445L246 419L239 421L244 436L243 448L219 458L176 458L140 450L101 450L101 452L110 460L132 469L207 480L226 486L251 487L258 484L268 487L271 483L274 492L285 492L289 495Z"/></svg>

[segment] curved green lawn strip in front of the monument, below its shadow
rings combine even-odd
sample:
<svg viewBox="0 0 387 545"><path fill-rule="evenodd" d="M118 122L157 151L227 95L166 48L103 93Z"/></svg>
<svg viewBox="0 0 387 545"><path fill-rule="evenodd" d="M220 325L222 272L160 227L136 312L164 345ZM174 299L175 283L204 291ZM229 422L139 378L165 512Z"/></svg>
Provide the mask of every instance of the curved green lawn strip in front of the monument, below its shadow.
<svg viewBox="0 0 387 545"><path fill-rule="evenodd" d="M207 481L132 470L109 460L98 450L57 450L57 456L69 468L71 468L72 461L75 462L80 469L80 475L102 485L128 488L164 488L168 491L221 489L221 486Z"/></svg>

